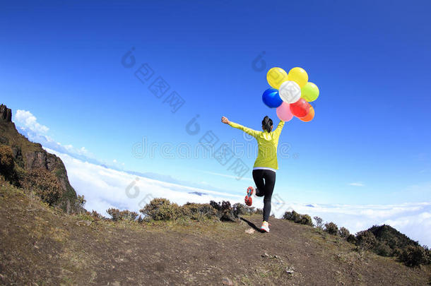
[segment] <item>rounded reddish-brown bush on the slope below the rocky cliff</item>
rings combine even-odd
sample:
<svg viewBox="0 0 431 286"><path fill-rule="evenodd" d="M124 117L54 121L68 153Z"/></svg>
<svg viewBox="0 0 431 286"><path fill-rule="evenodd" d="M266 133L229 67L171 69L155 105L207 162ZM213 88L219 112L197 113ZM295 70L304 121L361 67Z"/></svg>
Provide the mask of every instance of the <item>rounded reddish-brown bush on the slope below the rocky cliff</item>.
<svg viewBox="0 0 431 286"><path fill-rule="evenodd" d="M49 205L57 203L63 191L55 174L47 169L39 168L30 170L25 176L26 179L23 180L25 189L33 190L37 196L42 198L42 201Z"/></svg>

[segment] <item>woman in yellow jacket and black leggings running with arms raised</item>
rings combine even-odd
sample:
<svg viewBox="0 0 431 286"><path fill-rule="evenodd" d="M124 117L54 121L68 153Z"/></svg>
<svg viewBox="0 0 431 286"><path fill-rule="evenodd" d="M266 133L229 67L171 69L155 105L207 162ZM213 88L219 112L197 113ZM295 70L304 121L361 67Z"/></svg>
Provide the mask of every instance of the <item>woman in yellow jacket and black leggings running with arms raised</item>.
<svg viewBox="0 0 431 286"><path fill-rule="evenodd" d="M276 184L276 170L278 169L277 145L284 121L280 121L276 131L272 131L273 122L269 117L264 117L264 120L262 120L262 129L264 131L249 129L229 121L226 117L222 117L221 121L256 138L259 151L253 166L253 179L254 184L256 184L256 196L264 196L264 221L262 222L261 230L269 232L268 219L271 213L271 196ZM254 189L249 186L247 196L244 198L246 205L252 205L253 194Z"/></svg>

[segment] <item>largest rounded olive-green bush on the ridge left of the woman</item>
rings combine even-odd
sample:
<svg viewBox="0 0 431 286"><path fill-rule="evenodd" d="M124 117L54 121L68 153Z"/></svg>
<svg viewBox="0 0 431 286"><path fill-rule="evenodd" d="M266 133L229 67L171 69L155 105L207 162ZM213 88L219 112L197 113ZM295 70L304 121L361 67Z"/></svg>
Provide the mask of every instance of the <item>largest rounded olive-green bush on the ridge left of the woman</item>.
<svg viewBox="0 0 431 286"><path fill-rule="evenodd" d="M166 198L154 198L139 212L153 220L175 220L180 214L179 206Z"/></svg>

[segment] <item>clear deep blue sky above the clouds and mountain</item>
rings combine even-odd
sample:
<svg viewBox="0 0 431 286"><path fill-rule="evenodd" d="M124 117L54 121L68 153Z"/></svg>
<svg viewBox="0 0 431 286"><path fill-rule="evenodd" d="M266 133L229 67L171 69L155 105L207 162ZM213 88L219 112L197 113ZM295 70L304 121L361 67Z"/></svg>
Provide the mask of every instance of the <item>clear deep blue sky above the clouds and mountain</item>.
<svg viewBox="0 0 431 286"><path fill-rule="evenodd" d="M316 116L285 124L276 193L309 203L431 201L429 1L15 1L0 8L0 102L31 112L63 145L138 172L242 193L228 165L202 156L144 156L150 143L194 148L206 131L247 143L222 115L254 129L266 71L301 66L320 96ZM136 64L122 65L131 48ZM261 55L264 71L253 61ZM153 69L142 83L141 64ZM162 76L161 99L148 90ZM175 113L163 102L176 91ZM187 123L201 131L190 135ZM294 158L295 157L295 158ZM117 163L113 161L116 160ZM231 161L232 162L232 161ZM124 163L124 165L122 165Z"/></svg>

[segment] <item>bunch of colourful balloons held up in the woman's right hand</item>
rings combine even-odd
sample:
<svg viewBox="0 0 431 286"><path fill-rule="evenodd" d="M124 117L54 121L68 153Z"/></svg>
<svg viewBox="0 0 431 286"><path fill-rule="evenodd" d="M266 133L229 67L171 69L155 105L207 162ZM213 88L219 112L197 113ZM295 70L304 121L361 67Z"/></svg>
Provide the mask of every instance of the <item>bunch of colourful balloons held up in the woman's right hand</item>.
<svg viewBox="0 0 431 286"><path fill-rule="evenodd" d="M312 121L314 108L309 104L319 97L319 88L308 81L308 74L303 68L292 68L286 73L283 68L271 68L266 80L272 88L262 95L264 104L277 109L277 116L283 121L290 121L293 116L302 121Z"/></svg>

